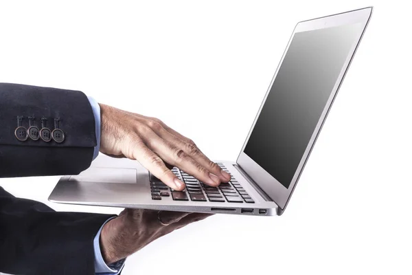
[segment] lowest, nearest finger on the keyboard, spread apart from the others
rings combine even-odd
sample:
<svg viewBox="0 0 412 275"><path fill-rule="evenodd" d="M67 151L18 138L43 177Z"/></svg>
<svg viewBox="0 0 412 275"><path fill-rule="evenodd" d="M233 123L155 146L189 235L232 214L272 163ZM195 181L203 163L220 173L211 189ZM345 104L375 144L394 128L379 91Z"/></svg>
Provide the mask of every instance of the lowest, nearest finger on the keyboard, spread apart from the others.
<svg viewBox="0 0 412 275"><path fill-rule="evenodd" d="M163 181L174 190L185 189L185 184L180 181L172 171L165 166L163 160L153 153L145 144L139 142L133 148L133 158L150 171L155 177Z"/></svg>

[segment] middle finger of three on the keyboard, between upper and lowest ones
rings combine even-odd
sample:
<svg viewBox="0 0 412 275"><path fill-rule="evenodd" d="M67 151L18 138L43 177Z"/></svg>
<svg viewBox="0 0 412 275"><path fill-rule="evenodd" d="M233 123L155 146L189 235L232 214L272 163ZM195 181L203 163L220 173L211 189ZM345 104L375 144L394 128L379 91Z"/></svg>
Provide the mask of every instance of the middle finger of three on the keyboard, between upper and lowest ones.
<svg viewBox="0 0 412 275"><path fill-rule="evenodd" d="M183 149L163 140L159 135L151 136L147 143L150 144L152 151L157 153L165 162L181 168L181 170L193 175L205 184L210 186L218 186L220 184L220 179L216 175L210 173L207 168L192 159Z"/></svg>

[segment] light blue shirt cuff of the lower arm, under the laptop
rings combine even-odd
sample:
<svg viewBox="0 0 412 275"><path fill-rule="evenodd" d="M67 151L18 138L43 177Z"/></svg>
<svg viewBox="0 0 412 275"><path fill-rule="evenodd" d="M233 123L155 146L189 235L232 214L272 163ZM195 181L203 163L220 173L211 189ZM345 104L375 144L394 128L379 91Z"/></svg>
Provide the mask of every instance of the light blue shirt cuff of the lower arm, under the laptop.
<svg viewBox="0 0 412 275"><path fill-rule="evenodd" d="M100 250L100 234L102 233L102 228L103 226L110 221L111 219L115 219L115 217L108 219L100 228L98 234L96 234L95 239L93 240L93 247L94 247L94 252L95 252L95 274L110 274L110 275L117 275L122 272L122 269L124 267L124 262L126 259L117 261L116 263L113 263L111 265L106 265L104 262L103 256L102 256L102 251Z"/></svg>

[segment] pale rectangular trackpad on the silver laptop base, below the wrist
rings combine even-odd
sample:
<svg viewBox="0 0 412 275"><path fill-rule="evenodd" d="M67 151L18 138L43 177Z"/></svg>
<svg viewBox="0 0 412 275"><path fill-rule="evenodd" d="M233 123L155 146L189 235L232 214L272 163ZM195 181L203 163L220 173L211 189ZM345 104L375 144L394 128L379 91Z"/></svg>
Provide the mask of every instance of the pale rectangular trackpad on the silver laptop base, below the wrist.
<svg viewBox="0 0 412 275"><path fill-rule="evenodd" d="M91 167L69 181L107 182L113 184L135 184L137 170L133 168L95 168Z"/></svg>

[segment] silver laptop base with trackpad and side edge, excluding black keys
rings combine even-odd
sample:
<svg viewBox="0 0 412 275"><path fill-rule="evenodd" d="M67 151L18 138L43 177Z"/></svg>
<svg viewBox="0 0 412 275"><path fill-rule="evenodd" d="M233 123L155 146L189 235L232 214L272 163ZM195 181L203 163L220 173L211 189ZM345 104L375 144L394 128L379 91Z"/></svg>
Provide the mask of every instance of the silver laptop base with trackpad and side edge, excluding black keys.
<svg viewBox="0 0 412 275"><path fill-rule="evenodd" d="M174 201L172 196L152 199L149 173L138 162L100 155L80 175L65 176L49 196L56 203L119 208L142 208L181 212L203 212L273 216L277 205L243 177L235 162L221 162L255 203ZM170 189L167 190L170 193Z"/></svg>

